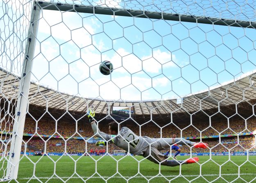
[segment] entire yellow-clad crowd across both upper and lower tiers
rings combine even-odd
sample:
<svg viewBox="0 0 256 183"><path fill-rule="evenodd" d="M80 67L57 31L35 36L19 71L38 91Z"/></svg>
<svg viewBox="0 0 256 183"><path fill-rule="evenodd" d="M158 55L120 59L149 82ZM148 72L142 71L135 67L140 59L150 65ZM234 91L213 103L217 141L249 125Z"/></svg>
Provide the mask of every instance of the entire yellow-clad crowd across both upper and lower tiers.
<svg viewBox="0 0 256 183"><path fill-rule="evenodd" d="M13 122L9 120L2 120L0 128L2 132L11 131ZM244 120L230 120L227 121L217 121L211 122L211 125L207 122L192 122L192 124L169 124L162 127L162 129L154 124L149 122L139 126L136 123L127 122L124 124L130 128L134 133L141 136L149 136L151 138L170 138L172 134L175 133L177 137L200 137L201 136L218 136L218 135L227 135L227 134L236 134L242 132L255 132L256 131L256 118L251 118L246 122ZM246 128L247 127L247 128ZM99 123L99 128L101 131L108 133L107 123ZM77 140L69 138L70 136L75 137L93 137L93 131L91 125L85 122L67 122L67 121L47 121L39 120L35 122L31 118L27 118L25 121L24 133L29 134L39 134L39 135L56 135L61 136L62 138L39 138L33 137L29 140L30 137L24 136L24 141L27 142L26 151L42 151L44 152L66 152L69 154L74 153L90 153L91 151L105 151L106 153L113 153L114 150L121 150L113 144L109 144L108 147L96 147L94 144L90 144L85 140ZM1 134L2 139L4 133ZM5 136L8 139L8 136ZM68 140L67 140L68 139ZM66 141L65 141L66 140ZM196 139L198 142L199 139ZM255 149L255 136L237 136L235 137L221 137L219 138L202 138L203 142L208 143L211 147L212 152L231 152L233 151L256 151ZM238 144L239 141L239 144ZM4 149L4 148L2 148ZM23 151L25 150L25 145L22 147ZM190 152L190 148L186 145L181 147L182 151ZM194 149L192 152L209 152L209 149Z"/></svg>

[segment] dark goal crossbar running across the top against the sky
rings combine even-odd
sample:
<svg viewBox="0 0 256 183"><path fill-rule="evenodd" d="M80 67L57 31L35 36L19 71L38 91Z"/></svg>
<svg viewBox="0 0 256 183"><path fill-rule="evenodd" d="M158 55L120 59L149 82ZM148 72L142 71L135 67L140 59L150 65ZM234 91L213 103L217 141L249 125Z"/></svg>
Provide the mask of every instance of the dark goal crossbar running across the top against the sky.
<svg viewBox="0 0 256 183"><path fill-rule="evenodd" d="M256 22L253 22L253 21L229 20L224 18L211 18L211 17L205 17L205 16L170 14L165 12L130 10L130 9L122 9L122 8L114 8L114 7L103 7L103 6L86 6L86 5L75 5L75 4L71 5L66 3L65 5L63 5L61 3L50 3L45 1L39 1L39 5L42 7L42 9L47 9L47 10L163 19L163 20L190 22L190 23L203 23L203 24L224 25L224 26L244 27L244 28L254 28L254 29L256 28Z"/></svg>

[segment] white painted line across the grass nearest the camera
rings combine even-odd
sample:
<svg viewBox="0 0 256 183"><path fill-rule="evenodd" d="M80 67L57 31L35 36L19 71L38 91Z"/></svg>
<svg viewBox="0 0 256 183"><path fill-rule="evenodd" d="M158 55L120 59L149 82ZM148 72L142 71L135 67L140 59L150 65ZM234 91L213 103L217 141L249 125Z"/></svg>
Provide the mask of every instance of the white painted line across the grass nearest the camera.
<svg viewBox="0 0 256 183"><path fill-rule="evenodd" d="M221 176L235 176L235 175L238 175L238 174L221 174ZM256 174L240 174L240 175L254 175L256 176ZM193 176L199 176L199 175L184 175L184 177L193 177ZM219 174L203 174L202 176L219 176ZM81 176L82 178L90 178L89 176ZM130 178L131 176L114 176L112 178ZM133 178L152 178L154 176L135 176ZM164 176L164 177L179 177L177 175L167 175L167 176ZM25 177L25 178L17 178L17 180L28 180L30 179L31 177ZM50 177L37 177L39 179L49 179ZM70 177L61 177L61 178L70 178ZM79 178L79 177L72 177L72 178ZM109 178L109 176L93 176L91 178ZM162 178L162 176L157 176L156 178ZM32 178L32 179L36 179L36 178ZM59 179L58 177L52 177L51 179Z"/></svg>

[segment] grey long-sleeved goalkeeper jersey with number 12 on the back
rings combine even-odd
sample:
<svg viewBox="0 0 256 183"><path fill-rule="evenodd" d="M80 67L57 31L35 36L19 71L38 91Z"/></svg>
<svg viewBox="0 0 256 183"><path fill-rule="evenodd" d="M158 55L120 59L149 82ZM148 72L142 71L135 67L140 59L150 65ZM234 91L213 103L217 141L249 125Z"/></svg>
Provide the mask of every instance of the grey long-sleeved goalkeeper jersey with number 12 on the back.
<svg viewBox="0 0 256 183"><path fill-rule="evenodd" d="M149 147L149 143L147 142L149 140L146 139L149 137L137 136L133 131L131 131L127 127L122 127L118 135L109 135L100 131L97 128L95 122L92 122L91 126L94 134L97 137L103 138L106 141L109 141L111 139L109 142L112 142L116 146L120 147L121 149L124 149L125 151L128 151L131 154L142 156L143 153L146 151L147 147Z"/></svg>

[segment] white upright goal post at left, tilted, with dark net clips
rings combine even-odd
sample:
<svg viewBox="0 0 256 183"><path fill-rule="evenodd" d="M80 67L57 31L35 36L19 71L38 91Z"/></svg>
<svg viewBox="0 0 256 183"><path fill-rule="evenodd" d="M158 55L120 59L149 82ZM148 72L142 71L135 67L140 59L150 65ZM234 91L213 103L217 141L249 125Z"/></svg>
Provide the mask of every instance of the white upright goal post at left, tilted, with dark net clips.
<svg viewBox="0 0 256 183"><path fill-rule="evenodd" d="M36 2L33 2L27 36L27 44L25 47L25 58L23 61L23 68L20 77L18 102L15 110L14 128L11 136L11 149L7 163L6 176L10 176L11 179L16 179L18 176L25 117L29 106L28 95L40 12L41 7L39 7Z"/></svg>

